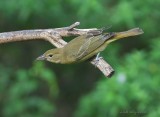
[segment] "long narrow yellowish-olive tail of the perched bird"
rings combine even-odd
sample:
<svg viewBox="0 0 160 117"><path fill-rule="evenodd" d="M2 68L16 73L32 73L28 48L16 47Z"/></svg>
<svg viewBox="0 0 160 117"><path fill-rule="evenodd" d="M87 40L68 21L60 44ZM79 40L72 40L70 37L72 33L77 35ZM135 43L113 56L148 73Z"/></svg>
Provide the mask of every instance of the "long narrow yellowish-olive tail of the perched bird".
<svg viewBox="0 0 160 117"><path fill-rule="evenodd" d="M123 32L115 32L114 36L108 40L108 43L118 40L118 39L125 38L125 37L131 37L131 36L136 36L140 34L143 34L143 30L140 28L133 28L133 29L130 29L128 31L123 31Z"/></svg>

